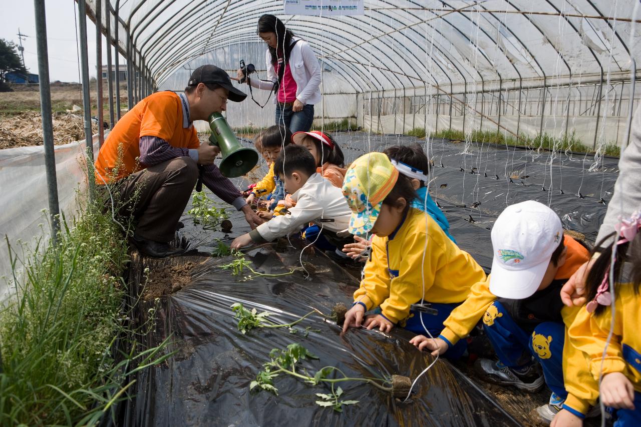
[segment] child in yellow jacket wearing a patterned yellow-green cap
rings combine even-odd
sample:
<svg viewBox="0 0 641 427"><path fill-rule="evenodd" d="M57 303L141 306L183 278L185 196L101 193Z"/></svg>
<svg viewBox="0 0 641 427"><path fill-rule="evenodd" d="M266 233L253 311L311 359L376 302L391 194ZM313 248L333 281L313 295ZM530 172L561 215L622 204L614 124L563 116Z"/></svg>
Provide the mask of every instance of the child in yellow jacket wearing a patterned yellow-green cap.
<svg viewBox="0 0 641 427"><path fill-rule="evenodd" d="M487 287L485 272L472 256L427 213L411 207L417 197L412 181L399 174L387 155L369 153L354 161L345 174L343 194L352 210L349 232L374 235L344 331L360 326L389 331L399 325L436 337L456 306L478 297L470 294L473 285ZM377 307L381 314L364 319L365 312ZM465 347L462 340L446 356L456 358Z"/></svg>

